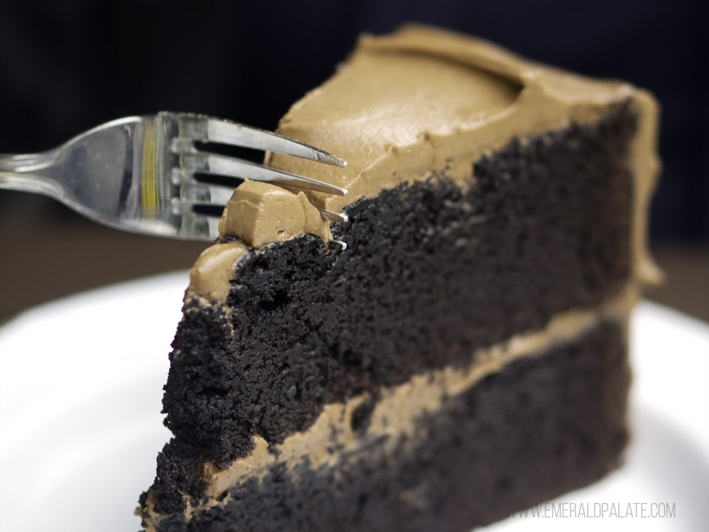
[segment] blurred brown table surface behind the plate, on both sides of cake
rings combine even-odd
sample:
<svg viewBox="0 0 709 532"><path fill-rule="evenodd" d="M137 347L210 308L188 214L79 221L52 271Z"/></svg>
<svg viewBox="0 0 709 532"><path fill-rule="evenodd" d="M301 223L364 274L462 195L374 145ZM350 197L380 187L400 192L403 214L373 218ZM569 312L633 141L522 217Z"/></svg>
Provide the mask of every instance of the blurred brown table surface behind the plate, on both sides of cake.
<svg viewBox="0 0 709 532"><path fill-rule="evenodd" d="M189 268L206 247L68 218L56 226L27 220L0 226L0 323L69 294ZM649 289L648 299L709 321L709 245L660 245L653 253L666 281Z"/></svg>

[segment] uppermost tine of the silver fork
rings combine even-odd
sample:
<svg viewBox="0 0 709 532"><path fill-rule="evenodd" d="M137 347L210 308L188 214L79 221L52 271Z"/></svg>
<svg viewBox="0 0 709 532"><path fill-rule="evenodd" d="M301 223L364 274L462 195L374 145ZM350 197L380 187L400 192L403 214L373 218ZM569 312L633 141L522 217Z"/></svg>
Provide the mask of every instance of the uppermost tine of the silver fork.
<svg viewBox="0 0 709 532"><path fill-rule="evenodd" d="M169 114L169 113L165 113ZM304 159L326 162L328 165L347 167L347 162L325 150L320 150L298 140L240 123L211 118L209 116L177 113L179 136L191 140L202 140L223 144L233 144L243 148L268 150Z"/></svg>

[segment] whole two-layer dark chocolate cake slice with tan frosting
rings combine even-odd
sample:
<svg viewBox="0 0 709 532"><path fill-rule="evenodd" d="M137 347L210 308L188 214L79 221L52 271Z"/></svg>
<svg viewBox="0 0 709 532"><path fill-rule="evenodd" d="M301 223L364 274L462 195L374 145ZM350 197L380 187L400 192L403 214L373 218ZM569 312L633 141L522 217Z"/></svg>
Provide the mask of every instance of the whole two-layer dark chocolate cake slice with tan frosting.
<svg viewBox="0 0 709 532"><path fill-rule="evenodd" d="M145 529L464 532L618 467L656 115L473 38L362 38L279 127L347 169L267 157L350 195L245 182L194 265Z"/></svg>

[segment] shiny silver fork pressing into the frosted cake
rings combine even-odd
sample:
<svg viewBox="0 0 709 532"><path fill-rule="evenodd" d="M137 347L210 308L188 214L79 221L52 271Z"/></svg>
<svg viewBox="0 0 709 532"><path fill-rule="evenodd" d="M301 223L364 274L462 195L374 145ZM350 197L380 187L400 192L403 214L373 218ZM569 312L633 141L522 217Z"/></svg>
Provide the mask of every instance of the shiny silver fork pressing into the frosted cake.
<svg viewBox="0 0 709 532"><path fill-rule="evenodd" d="M197 150L196 141L347 165L276 133L209 116L162 112L105 123L48 152L0 155L0 189L50 196L113 228L186 240L217 238L218 214L240 182L233 178L347 195L346 189L315 179ZM202 174L223 176L227 184L200 181ZM323 209L320 213L325 219L347 219Z"/></svg>

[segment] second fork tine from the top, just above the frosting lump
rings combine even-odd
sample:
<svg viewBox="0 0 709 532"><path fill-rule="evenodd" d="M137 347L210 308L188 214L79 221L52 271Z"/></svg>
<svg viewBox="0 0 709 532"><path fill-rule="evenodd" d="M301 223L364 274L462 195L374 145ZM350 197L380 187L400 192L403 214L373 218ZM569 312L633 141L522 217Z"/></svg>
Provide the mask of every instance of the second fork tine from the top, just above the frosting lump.
<svg viewBox="0 0 709 532"><path fill-rule="evenodd" d="M192 151L190 153L183 153L180 158L182 169L191 172L239 177L241 179L251 179L252 181L289 184L301 189L316 190L336 196L347 196L347 189L336 187L334 184L291 174L290 172L258 165L255 162L248 162L236 159L235 157Z"/></svg>

